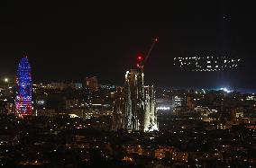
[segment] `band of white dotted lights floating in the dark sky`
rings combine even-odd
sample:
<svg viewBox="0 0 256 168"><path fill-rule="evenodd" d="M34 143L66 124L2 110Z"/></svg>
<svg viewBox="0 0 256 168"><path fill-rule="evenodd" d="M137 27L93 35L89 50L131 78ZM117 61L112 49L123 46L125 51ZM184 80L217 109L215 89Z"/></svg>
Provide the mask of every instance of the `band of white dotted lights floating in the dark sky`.
<svg viewBox="0 0 256 168"><path fill-rule="evenodd" d="M174 66L186 71L215 72L235 69L241 64L240 58L231 57L174 57Z"/></svg>

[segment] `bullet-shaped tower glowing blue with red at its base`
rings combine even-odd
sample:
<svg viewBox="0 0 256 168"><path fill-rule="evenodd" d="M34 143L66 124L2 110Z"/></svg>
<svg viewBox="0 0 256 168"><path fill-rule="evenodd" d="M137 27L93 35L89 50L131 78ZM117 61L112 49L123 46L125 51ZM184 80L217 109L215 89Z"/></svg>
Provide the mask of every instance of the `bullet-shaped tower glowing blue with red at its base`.
<svg viewBox="0 0 256 168"><path fill-rule="evenodd" d="M19 117L32 114L32 74L28 57L22 57L17 70L15 110Z"/></svg>

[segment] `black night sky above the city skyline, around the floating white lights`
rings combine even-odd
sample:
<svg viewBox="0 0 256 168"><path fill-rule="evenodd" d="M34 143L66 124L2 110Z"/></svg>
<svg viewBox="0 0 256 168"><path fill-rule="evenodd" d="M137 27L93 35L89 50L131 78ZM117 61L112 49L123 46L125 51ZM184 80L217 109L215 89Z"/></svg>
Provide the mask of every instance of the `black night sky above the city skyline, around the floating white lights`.
<svg viewBox="0 0 256 168"><path fill-rule="evenodd" d="M41 2L41 3L39 3ZM123 84L151 41L159 43L145 67L147 84L254 89L256 14L243 1L21 1L0 4L0 76L15 75L28 55L34 82ZM248 2L247 2L248 3ZM173 57L240 57L234 71L176 69Z"/></svg>

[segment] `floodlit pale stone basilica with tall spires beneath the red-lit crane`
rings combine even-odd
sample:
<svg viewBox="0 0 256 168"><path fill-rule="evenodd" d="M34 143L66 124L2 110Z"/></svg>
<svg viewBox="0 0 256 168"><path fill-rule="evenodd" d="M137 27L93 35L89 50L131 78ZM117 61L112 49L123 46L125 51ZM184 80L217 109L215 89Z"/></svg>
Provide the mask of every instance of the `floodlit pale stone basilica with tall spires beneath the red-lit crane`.
<svg viewBox="0 0 256 168"><path fill-rule="evenodd" d="M144 86L144 74L131 69L125 74L125 84L117 88L114 101L113 129L144 132L157 130L155 92Z"/></svg>

